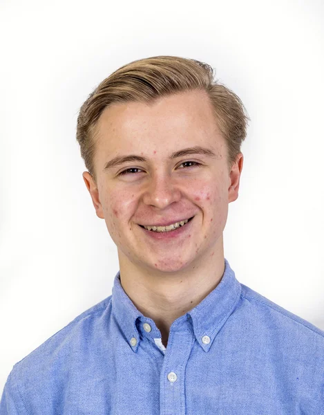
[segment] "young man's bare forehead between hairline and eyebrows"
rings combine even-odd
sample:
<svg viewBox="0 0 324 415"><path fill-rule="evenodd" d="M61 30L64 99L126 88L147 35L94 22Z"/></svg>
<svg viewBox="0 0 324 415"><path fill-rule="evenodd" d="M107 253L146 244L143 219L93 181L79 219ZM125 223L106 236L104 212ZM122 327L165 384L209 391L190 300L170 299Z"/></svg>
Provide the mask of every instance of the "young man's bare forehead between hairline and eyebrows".
<svg viewBox="0 0 324 415"><path fill-rule="evenodd" d="M129 151L176 151L184 145L225 144L209 97L204 91L168 95L146 104L113 104L97 123L98 157Z"/></svg>

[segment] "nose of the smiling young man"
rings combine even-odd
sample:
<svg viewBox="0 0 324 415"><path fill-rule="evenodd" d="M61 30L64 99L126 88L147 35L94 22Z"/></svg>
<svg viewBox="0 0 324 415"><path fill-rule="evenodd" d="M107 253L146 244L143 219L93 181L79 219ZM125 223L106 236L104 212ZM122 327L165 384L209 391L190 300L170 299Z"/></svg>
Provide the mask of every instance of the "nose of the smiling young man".
<svg viewBox="0 0 324 415"><path fill-rule="evenodd" d="M164 209L173 202L181 199L181 192L168 175L155 176L144 193L143 201L146 205Z"/></svg>

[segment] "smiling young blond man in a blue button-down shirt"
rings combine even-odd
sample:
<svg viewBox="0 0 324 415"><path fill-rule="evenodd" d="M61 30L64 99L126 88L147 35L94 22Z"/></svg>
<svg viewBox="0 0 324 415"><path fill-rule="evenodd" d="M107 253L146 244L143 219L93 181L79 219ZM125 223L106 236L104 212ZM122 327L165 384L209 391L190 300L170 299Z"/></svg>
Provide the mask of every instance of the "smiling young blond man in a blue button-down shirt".
<svg viewBox="0 0 324 415"><path fill-rule="evenodd" d="M90 94L83 178L120 272L15 365L1 415L324 414L323 331L224 257L247 119L208 65L180 57L132 62Z"/></svg>

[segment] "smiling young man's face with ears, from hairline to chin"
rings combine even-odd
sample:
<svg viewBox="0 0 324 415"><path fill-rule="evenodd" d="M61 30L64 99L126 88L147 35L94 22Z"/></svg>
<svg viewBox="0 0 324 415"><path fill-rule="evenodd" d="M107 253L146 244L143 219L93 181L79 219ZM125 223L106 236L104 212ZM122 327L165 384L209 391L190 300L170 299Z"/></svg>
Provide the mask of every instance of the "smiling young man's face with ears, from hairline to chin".
<svg viewBox="0 0 324 415"><path fill-rule="evenodd" d="M168 273L207 261L222 242L228 203L238 197L242 154L229 170L206 93L114 104L97 132L97 184L83 176L120 259ZM187 219L169 232L143 228Z"/></svg>

